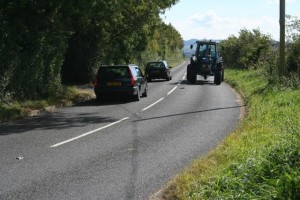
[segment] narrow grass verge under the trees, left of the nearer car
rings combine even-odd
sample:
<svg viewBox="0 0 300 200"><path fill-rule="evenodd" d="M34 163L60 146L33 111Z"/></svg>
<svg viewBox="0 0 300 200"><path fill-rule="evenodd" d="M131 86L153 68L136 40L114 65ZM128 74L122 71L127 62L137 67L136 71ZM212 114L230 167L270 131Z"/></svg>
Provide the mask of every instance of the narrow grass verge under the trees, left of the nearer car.
<svg viewBox="0 0 300 200"><path fill-rule="evenodd" d="M46 111L51 106L66 106L91 97L92 94L75 86L64 86L55 97L24 102L0 104L0 122L8 122L30 116L33 111Z"/></svg>

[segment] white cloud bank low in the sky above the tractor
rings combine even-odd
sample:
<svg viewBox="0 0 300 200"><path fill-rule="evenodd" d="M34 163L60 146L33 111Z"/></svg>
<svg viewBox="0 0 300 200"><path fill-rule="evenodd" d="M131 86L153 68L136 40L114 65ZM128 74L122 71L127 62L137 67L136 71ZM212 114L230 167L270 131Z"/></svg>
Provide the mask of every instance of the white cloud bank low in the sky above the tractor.
<svg viewBox="0 0 300 200"><path fill-rule="evenodd" d="M259 28L264 34L278 38L279 23L270 17L256 19L221 17L213 10L206 13L195 13L184 21L173 23L184 39L226 39L230 35L238 35L243 28L252 30Z"/></svg>

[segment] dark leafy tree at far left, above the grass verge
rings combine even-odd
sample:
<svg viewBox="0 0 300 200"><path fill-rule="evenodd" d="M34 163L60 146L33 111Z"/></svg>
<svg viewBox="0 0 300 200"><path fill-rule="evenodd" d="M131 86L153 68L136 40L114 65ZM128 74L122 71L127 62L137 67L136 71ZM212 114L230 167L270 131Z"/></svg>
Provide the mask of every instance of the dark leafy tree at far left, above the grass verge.
<svg viewBox="0 0 300 200"><path fill-rule="evenodd" d="M61 1L1 1L1 92L17 99L60 88L60 66L70 33ZM65 20L61 20L65 18Z"/></svg>

